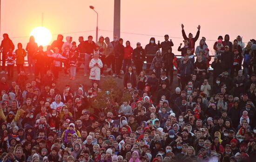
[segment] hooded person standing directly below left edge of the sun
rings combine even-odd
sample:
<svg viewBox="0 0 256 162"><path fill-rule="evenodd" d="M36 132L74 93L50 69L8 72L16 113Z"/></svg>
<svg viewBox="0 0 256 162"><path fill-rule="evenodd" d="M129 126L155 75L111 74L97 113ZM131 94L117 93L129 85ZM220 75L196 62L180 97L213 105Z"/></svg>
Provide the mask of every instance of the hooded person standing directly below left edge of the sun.
<svg viewBox="0 0 256 162"><path fill-rule="evenodd" d="M29 69L29 73L30 74L34 74L34 66L35 66L35 61L33 59L34 54L37 52L38 50L38 45L37 43L35 43L34 40L34 36L30 36L29 37L29 42L27 43L27 62L28 62L28 69Z"/></svg>

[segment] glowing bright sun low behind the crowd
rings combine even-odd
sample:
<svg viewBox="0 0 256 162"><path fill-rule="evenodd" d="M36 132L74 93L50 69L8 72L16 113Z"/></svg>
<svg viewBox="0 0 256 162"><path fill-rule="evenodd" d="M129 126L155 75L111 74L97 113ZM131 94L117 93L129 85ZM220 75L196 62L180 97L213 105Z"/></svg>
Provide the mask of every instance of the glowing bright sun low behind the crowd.
<svg viewBox="0 0 256 162"><path fill-rule="evenodd" d="M45 27L36 27L30 32L30 36L34 36L35 42L40 46L48 45L52 40L51 32Z"/></svg>

